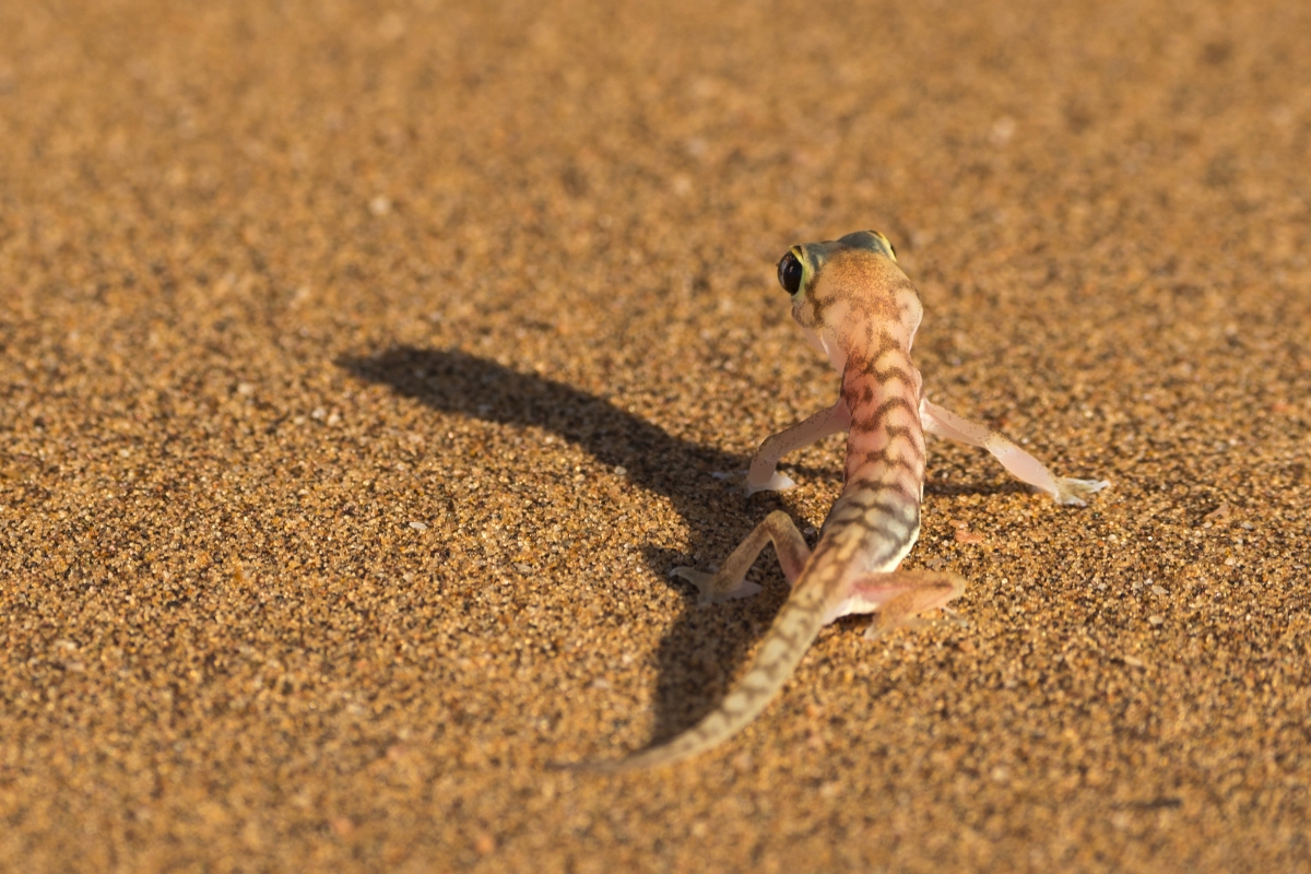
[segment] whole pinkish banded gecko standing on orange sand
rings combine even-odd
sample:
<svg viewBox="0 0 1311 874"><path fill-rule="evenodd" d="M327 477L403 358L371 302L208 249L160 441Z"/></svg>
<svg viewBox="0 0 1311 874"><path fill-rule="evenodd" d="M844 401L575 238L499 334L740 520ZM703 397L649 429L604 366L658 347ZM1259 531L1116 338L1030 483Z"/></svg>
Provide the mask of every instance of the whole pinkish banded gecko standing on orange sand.
<svg viewBox="0 0 1311 874"><path fill-rule="evenodd" d="M792 518L776 510L717 573L692 567L671 571L696 586L703 604L747 598L760 586L749 582L746 573L772 542L792 590L754 663L714 710L663 744L617 761L583 764L583 769L657 768L705 752L766 708L825 625L842 616L874 613L865 636L876 638L958 598L965 580L956 574L899 570L920 531L926 434L987 449L1011 474L1057 503L1083 504L1109 485L1055 477L999 431L928 401L911 360L923 307L884 235L857 231L835 241L794 245L779 261L777 271L779 284L792 297L792 317L842 376L842 388L832 406L760 444L746 473L746 493L794 486L779 473L779 460L847 431L842 493L814 549Z"/></svg>

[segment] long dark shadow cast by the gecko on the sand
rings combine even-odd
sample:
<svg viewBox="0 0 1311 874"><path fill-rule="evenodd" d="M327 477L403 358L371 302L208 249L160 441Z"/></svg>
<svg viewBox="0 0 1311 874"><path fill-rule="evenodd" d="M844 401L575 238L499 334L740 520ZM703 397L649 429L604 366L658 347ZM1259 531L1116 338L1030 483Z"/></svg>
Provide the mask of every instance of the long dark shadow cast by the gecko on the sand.
<svg viewBox="0 0 1311 874"><path fill-rule="evenodd" d="M608 400L461 351L399 346L375 355L341 358L337 364L434 410L551 431L604 465L623 466L631 482L666 495L687 522L688 554L654 545L644 546L642 553L652 573L684 596L687 609L675 618L656 654L659 679L652 742L695 725L720 702L733 666L742 662L747 646L763 633L785 598L783 574L776 563L762 562L767 567L764 592L700 608L694 588L670 579L669 571L676 565L704 567L722 561L766 514L785 507L777 495L763 494L753 498L749 508L738 490L712 477L714 472L746 468L750 457L683 440ZM821 478L842 476L831 469L792 469ZM705 532L716 529L720 536L708 545Z"/></svg>

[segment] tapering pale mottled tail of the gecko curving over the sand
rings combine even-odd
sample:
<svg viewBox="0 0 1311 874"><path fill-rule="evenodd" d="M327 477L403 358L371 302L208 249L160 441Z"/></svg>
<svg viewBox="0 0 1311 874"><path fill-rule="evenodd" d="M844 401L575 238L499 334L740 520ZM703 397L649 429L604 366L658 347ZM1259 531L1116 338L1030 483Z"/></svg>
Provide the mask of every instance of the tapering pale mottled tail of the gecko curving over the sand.
<svg viewBox="0 0 1311 874"><path fill-rule="evenodd" d="M823 628L827 611L815 586L797 580L792 596L764 636L760 653L742 681L713 712L673 740L619 761L570 765L573 770L619 773L665 768L720 746L747 726L773 700Z"/></svg>

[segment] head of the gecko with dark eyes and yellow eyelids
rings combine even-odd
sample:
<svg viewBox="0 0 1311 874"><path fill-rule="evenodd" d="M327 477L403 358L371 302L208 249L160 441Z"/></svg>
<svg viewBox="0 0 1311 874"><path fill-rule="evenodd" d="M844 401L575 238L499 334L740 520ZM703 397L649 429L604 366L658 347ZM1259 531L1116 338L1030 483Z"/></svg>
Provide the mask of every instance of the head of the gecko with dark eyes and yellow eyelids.
<svg viewBox="0 0 1311 874"><path fill-rule="evenodd" d="M905 337L923 313L919 292L897 266L897 250L877 231L826 242L802 242L779 259L779 284L792 295L792 317L806 339L840 372L871 322Z"/></svg>

